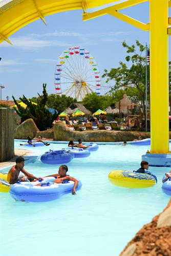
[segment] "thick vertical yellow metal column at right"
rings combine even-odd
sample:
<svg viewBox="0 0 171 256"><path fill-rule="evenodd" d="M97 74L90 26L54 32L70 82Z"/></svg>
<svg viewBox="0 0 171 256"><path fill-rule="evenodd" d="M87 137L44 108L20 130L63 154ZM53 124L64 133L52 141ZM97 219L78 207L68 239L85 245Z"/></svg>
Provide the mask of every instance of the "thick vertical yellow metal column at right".
<svg viewBox="0 0 171 256"><path fill-rule="evenodd" d="M151 152L169 153L168 0L149 0Z"/></svg>

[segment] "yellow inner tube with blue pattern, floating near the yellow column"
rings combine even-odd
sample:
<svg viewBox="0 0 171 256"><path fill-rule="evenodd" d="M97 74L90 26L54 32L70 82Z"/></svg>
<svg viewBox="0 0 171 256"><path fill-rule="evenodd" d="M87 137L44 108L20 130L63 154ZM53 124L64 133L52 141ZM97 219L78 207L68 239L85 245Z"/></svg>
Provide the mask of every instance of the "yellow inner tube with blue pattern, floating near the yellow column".
<svg viewBox="0 0 171 256"><path fill-rule="evenodd" d="M121 187L144 188L156 184L153 176L133 173L130 170L112 170L108 177L113 184Z"/></svg>

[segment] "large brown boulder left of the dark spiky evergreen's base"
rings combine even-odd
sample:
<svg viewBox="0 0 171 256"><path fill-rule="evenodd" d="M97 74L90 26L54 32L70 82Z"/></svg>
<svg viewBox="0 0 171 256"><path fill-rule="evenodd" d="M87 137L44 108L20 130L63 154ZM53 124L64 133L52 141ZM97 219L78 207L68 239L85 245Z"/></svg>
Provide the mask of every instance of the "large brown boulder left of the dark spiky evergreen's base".
<svg viewBox="0 0 171 256"><path fill-rule="evenodd" d="M32 118L21 123L15 132L15 139L27 139L29 136L34 138L38 132L38 128Z"/></svg>

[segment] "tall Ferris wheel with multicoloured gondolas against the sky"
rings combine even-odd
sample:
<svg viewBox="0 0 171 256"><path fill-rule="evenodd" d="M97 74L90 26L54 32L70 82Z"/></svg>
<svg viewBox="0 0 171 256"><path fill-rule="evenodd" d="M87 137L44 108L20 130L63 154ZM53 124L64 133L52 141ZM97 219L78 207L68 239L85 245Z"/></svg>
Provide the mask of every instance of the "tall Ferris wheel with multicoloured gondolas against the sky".
<svg viewBox="0 0 171 256"><path fill-rule="evenodd" d="M82 100L86 94L100 95L100 73L90 51L70 47L63 51L55 68L56 94L66 94Z"/></svg>

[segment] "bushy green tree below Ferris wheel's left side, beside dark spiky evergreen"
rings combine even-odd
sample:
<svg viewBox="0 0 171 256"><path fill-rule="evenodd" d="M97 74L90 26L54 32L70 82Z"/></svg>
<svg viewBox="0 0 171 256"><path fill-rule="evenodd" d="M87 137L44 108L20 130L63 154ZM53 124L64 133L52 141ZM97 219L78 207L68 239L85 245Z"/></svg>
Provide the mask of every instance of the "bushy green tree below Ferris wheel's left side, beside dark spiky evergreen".
<svg viewBox="0 0 171 256"><path fill-rule="evenodd" d="M48 95L47 106L49 106L49 108L56 109L61 113L74 102L77 102L77 100L70 96L66 96L65 94L62 94L61 96L50 94Z"/></svg>

